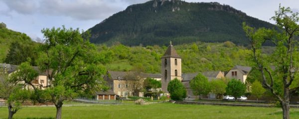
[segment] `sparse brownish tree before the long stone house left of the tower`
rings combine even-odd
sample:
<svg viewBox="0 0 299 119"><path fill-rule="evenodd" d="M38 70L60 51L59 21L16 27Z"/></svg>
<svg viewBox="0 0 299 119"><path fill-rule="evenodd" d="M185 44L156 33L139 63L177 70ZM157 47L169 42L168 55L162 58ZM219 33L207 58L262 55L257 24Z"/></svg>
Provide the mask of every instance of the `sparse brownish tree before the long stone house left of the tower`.
<svg viewBox="0 0 299 119"><path fill-rule="evenodd" d="M140 71L130 71L125 76L128 89L132 92L133 96L139 96L140 90L143 88L144 78L141 77ZM131 95L129 93L129 95Z"/></svg>

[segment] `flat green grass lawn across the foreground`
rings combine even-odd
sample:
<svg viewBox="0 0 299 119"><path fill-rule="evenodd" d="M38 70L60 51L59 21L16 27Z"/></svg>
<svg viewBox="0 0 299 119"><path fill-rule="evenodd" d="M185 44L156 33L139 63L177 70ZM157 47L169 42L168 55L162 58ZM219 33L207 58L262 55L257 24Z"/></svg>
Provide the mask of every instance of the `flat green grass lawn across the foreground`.
<svg viewBox="0 0 299 119"><path fill-rule="evenodd" d="M53 119L55 112L55 107L24 107L14 119ZM7 114L7 108L1 107L0 118ZM291 109L291 119L298 118L299 109ZM62 119L282 119L282 113L280 108L164 103L63 107Z"/></svg>

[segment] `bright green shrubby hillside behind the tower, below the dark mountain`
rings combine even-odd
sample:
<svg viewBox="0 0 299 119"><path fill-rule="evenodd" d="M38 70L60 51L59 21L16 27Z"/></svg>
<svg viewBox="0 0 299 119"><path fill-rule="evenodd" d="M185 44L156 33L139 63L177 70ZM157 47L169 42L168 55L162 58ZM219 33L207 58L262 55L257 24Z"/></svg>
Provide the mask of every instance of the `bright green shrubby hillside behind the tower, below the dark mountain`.
<svg viewBox="0 0 299 119"><path fill-rule="evenodd" d="M249 50L242 46L235 46L231 42L225 43L192 43L174 45L176 52L182 57L182 73L221 70L227 71L234 65L249 65L246 60ZM116 44L111 47L98 46L103 54L112 54L112 62L107 64L108 70L129 71L142 70L148 73L160 73L161 56L167 47L134 46L127 47Z"/></svg>

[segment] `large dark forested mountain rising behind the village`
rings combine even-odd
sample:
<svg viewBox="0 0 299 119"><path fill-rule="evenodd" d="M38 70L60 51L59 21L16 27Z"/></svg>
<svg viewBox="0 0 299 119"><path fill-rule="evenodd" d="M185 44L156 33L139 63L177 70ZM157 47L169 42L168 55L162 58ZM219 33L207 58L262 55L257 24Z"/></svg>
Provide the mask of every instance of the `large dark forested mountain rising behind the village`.
<svg viewBox="0 0 299 119"><path fill-rule="evenodd" d="M225 42L247 45L242 22L252 27L274 25L218 2L150 0L128 6L90 28L92 43L168 45L191 42Z"/></svg>

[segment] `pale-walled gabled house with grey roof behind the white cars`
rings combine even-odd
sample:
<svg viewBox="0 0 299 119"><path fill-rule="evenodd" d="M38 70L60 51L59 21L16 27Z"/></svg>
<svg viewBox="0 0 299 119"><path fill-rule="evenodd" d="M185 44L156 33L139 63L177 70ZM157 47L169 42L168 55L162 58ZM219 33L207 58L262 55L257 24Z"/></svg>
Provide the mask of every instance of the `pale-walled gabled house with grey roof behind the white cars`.
<svg viewBox="0 0 299 119"><path fill-rule="evenodd" d="M245 83L247 75L251 69L252 68L250 66L236 65L225 74L225 77L229 79L235 78Z"/></svg>

